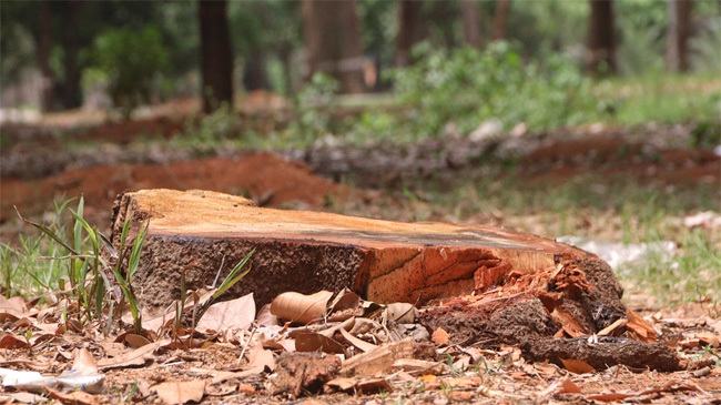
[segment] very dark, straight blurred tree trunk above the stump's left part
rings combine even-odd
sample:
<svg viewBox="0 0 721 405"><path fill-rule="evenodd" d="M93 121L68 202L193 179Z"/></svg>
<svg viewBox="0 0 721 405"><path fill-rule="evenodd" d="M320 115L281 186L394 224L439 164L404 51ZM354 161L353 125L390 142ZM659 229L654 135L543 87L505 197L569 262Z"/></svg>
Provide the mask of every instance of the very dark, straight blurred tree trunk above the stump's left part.
<svg viewBox="0 0 721 405"><path fill-rule="evenodd" d="M200 1L203 111L233 105L233 52L227 28L227 1Z"/></svg>

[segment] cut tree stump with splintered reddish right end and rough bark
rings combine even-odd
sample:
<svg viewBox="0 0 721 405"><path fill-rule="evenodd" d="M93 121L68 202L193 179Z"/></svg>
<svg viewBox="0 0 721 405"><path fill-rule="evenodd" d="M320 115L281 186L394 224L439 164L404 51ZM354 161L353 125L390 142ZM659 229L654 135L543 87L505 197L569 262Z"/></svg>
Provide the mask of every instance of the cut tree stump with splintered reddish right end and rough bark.
<svg viewBox="0 0 721 405"><path fill-rule="evenodd" d="M420 323L443 330L448 344L510 344L529 360L559 366L569 360L596 369L684 366L657 343L653 326L621 303L623 290L606 262L542 237L262 209L209 191L121 195L113 207L116 249L126 221L131 235L148 226L135 273L144 308L177 300L182 272L197 290L255 250L250 273L225 298L253 293L263 305L284 292L348 287L380 304L433 303L419 311Z"/></svg>

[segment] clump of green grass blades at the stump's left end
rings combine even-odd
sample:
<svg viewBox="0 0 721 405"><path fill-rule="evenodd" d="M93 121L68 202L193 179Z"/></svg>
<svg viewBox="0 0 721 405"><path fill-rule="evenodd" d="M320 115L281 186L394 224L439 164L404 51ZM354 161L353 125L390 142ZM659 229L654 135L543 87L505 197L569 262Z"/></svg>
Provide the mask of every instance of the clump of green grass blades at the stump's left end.
<svg viewBox="0 0 721 405"><path fill-rule="evenodd" d="M140 263L146 229L139 232L132 244L126 244L130 223L125 223L121 235L120 254L118 254L110 241L83 217L84 200L82 198L80 198L75 210L68 209L74 220L72 232L70 232L59 220L67 205L68 202L55 204L55 215L49 225L26 220L18 213L21 220L41 231L41 235L21 237L20 250L9 245L2 246L0 263L4 270L6 294L52 294L54 293L52 286L57 284L62 293L79 304L80 311L74 314L78 321L85 324L91 321L100 322L105 316L104 310L109 307L108 324L110 325L114 302L109 296L116 283L123 292L122 298L128 300L130 304L134 321L133 327L136 333L140 333L141 311L134 294L132 277ZM38 252L41 249L49 254L40 256ZM113 257L115 261L112 265L103 257L103 250L110 252L110 257L116 255ZM61 252L63 255L59 256L58 254ZM40 259L49 260L51 265L43 266ZM126 270L122 274L120 269L125 263L125 259ZM64 274L55 269L62 264L65 264ZM21 276L18 276L19 271L22 271ZM112 272L114 282L108 279L106 272ZM28 277L24 279L22 275ZM22 284L18 285L18 282ZM69 288L65 288L67 284L69 284Z"/></svg>

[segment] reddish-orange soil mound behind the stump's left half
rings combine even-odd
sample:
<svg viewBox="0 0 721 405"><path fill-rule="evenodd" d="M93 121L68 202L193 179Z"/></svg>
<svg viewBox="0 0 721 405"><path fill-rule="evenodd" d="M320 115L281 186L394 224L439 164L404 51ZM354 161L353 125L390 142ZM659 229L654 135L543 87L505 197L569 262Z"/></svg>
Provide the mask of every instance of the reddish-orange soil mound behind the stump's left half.
<svg viewBox="0 0 721 405"><path fill-rule="evenodd" d="M125 190L203 189L252 198L258 205L295 204L323 206L329 198L344 199L352 192L329 180L314 175L304 163L272 153L252 153L237 158L212 158L166 164L111 164L70 169L34 180L3 179L0 184L1 217L17 205L22 213L52 206L54 198L81 194L85 204L109 219L108 207Z"/></svg>

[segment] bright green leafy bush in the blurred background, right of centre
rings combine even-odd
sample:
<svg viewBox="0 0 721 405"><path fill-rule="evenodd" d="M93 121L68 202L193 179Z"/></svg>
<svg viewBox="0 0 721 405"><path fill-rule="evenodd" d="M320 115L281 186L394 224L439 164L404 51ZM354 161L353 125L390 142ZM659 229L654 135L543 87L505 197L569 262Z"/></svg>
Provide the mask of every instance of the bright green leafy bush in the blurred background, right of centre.
<svg viewBox="0 0 721 405"><path fill-rule="evenodd" d="M430 52L416 48L418 63L394 78L402 103L412 107L406 124L417 136L436 135L448 122L463 133L499 119L506 128L525 122L546 129L597 118L591 82L568 58L552 54L545 63L525 64L505 42L484 51L465 48Z"/></svg>

